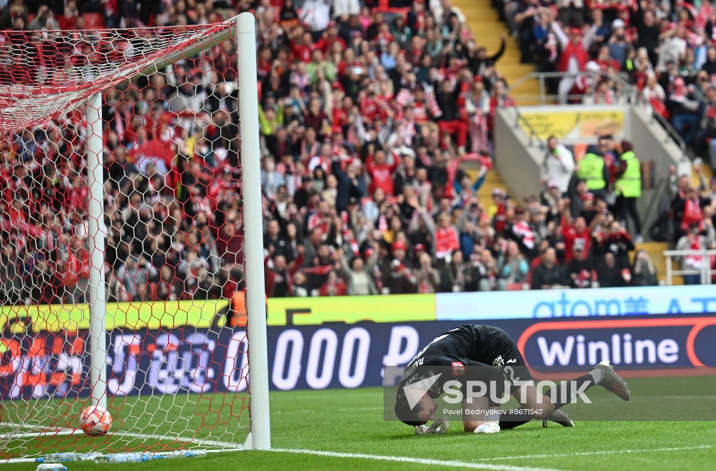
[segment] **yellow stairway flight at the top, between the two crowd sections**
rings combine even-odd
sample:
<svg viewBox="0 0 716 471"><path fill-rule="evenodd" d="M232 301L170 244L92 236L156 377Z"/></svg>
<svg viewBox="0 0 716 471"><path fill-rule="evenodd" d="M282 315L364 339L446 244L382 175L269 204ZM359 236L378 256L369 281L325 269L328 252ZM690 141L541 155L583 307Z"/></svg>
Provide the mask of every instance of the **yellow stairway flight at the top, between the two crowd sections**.
<svg viewBox="0 0 716 471"><path fill-rule="evenodd" d="M500 47L500 36L510 34L507 26L502 23L490 5L489 0L453 0L453 6L463 11L467 18L470 31L473 31L478 47L488 49L488 54L494 54ZM497 69L503 74L508 85L517 82L518 79L535 72L532 64L520 63L520 49L512 37L507 39L505 54L497 62ZM538 100L526 98L536 97L539 94L539 82L537 79L530 79L513 92L513 98L518 105L536 105Z"/></svg>

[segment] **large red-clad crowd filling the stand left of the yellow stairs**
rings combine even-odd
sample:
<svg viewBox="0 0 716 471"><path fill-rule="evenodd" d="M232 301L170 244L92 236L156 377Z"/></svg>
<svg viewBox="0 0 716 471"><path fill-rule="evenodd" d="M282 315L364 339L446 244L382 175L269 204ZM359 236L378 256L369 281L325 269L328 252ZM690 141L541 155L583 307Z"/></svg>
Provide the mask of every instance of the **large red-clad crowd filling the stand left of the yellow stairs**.
<svg viewBox="0 0 716 471"><path fill-rule="evenodd" d="M541 195L478 197L495 109L512 102L503 49L479 47L450 0L391 11L357 0L87 5L0 1L0 21L82 29L89 13L168 26L255 11L267 296L657 283L644 251L629 257L641 184L627 141L604 137L575 165L551 139ZM105 93L110 299L243 289L235 64L227 41ZM85 150L80 112L4 141L1 298L84 300ZM710 206L698 206L709 224Z"/></svg>

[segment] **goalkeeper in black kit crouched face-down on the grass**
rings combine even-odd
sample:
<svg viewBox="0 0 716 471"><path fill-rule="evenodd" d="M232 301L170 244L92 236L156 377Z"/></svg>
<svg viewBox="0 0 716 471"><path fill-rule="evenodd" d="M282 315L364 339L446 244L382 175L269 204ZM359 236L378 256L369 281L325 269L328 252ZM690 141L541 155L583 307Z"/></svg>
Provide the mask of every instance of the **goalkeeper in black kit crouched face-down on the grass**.
<svg viewBox="0 0 716 471"><path fill-rule="evenodd" d="M400 379L395 414L405 424L414 426L417 434L445 433L447 429L447 421L442 419L437 419L430 427L425 426L428 420L435 419L437 404L434 399L447 392L442 390L442 382L435 379L437 369L430 369L430 366L450 369L458 382L464 382L470 374L477 372L480 382L495 389L474 399L474 402L483 404L484 407L478 410L486 414L466 413L474 411L475 404L463 399L465 432L496 433L500 428L511 429L531 419L551 420L564 427L574 427L559 408L594 385L629 400L627 384L614 372L609 361L602 361L581 377L559 384L560 394L553 402L551 391L544 395L538 392L517 344L505 331L493 326L466 325L447 331L427 344L410 361ZM465 378L458 378L466 370ZM505 381L523 409L500 414L499 402L495 398L503 396ZM419 387L412 388L412 385ZM409 397L414 393L417 397Z"/></svg>

